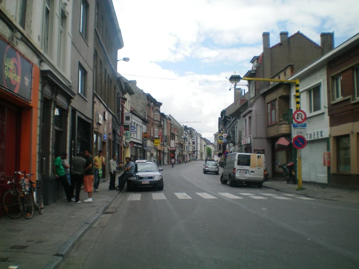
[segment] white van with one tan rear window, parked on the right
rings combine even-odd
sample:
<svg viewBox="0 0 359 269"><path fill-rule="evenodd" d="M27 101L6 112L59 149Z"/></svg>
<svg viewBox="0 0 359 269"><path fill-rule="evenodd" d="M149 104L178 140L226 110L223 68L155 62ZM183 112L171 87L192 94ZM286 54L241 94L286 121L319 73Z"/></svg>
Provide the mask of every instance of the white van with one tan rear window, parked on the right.
<svg viewBox="0 0 359 269"><path fill-rule="evenodd" d="M236 183L257 185L259 188L264 182L265 158L263 154L231 153L228 154L223 166L221 183L230 186Z"/></svg>

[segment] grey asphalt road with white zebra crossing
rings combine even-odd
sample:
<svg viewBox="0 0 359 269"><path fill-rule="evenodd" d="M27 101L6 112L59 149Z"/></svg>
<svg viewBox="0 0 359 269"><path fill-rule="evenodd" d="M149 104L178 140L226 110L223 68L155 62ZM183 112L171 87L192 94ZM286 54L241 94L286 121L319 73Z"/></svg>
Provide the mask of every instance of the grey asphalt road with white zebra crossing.
<svg viewBox="0 0 359 269"><path fill-rule="evenodd" d="M358 205L222 185L203 163L124 191L61 268L359 268Z"/></svg>

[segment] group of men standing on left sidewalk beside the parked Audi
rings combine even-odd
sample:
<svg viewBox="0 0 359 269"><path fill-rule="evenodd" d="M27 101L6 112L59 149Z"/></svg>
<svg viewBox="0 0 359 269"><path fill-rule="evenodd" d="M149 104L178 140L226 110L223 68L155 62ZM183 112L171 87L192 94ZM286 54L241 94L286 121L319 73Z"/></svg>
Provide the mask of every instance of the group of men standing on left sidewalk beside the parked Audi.
<svg viewBox="0 0 359 269"><path fill-rule="evenodd" d="M79 152L78 156L73 157L71 160L71 174L67 158L68 154L64 151L59 157L55 158L53 163L54 176L64 186L67 202L81 203L80 190L82 184L84 184L84 191L87 192L88 196L84 202L93 202L92 192L93 189L94 192L99 192L103 166L105 166L105 158L102 151L99 151L95 157L91 156L91 151ZM120 175L119 185L115 187L117 168L121 168L121 164L117 164L116 160L117 155L114 154L109 162L109 190L116 189L122 191L127 179L135 172L135 164L131 161L130 157L126 158L124 173Z"/></svg>

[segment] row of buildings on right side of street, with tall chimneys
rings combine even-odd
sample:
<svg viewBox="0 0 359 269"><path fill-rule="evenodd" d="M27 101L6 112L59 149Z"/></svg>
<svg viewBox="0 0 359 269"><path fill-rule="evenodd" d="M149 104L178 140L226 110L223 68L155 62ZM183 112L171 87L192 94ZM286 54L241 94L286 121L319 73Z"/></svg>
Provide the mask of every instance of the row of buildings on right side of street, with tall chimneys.
<svg viewBox="0 0 359 269"><path fill-rule="evenodd" d="M307 146L301 150L303 181L359 186L358 83L359 34L334 48L334 33L316 44L298 32L251 60L243 77L300 81L301 109L307 114ZM270 177L282 177L280 165L296 163L292 147L295 84L250 81L248 92L236 89L235 102L219 118L219 132L229 141L220 151L265 154Z"/></svg>

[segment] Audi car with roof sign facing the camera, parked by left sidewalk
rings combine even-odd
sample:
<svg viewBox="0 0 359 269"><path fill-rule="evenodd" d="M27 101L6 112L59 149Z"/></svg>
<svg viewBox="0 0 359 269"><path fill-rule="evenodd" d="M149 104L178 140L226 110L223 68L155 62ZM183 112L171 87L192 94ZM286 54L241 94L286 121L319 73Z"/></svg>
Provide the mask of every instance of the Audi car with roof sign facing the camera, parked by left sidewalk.
<svg viewBox="0 0 359 269"><path fill-rule="evenodd" d="M131 191L133 188L156 187L158 190L163 190L163 177L160 171L162 168L147 160L137 160L135 162L135 173L127 180L127 190Z"/></svg>

